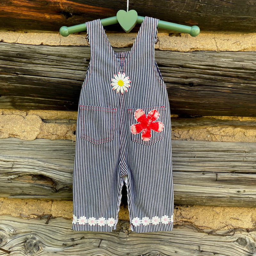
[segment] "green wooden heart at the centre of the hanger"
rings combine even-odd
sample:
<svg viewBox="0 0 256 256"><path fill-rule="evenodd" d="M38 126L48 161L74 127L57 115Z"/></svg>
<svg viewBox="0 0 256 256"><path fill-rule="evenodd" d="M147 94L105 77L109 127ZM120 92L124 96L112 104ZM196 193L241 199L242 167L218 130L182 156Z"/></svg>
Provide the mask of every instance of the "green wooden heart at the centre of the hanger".
<svg viewBox="0 0 256 256"><path fill-rule="evenodd" d="M137 17L138 13L135 10L130 10L129 12L119 10L116 13L117 21L126 33L129 33L135 27Z"/></svg>

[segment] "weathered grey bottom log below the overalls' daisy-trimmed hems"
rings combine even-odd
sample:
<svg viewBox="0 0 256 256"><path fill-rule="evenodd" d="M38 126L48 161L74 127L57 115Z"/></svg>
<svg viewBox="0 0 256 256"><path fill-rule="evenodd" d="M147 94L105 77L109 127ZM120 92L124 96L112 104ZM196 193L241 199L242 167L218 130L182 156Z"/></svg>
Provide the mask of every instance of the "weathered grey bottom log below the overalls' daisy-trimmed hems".
<svg viewBox="0 0 256 256"><path fill-rule="evenodd" d="M256 252L256 232L237 228L216 231L176 226L171 232L134 233L126 221L119 221L111 233L70 227L71 220L62 218L47 221L46 216L38 220L1 215L0 247L20 256L248 256Z"/></svg>

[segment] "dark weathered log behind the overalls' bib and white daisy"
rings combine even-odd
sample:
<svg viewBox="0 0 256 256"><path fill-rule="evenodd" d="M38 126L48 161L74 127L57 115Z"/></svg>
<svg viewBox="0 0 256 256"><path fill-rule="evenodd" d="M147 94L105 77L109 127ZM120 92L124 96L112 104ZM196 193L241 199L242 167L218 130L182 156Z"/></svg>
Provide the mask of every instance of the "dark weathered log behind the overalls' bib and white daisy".
<svg viewBox="0 0 256 256"><path fill-rule="evenodd" d="M0 108L78 109L88 47L0 45ZM254 52L156 51L156 61L173 114L256 116Z"/></svg>

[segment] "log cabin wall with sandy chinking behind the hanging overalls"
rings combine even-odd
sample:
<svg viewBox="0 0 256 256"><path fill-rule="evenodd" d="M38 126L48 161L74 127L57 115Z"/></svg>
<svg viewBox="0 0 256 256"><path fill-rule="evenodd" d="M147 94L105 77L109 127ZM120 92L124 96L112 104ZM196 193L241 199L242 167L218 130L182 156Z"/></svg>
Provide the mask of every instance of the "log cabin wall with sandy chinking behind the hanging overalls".
<svg viewBox="0 0 256 256"><path fill-rule="evenodd" d="M85 34L58 29L126 3L11 0L0 11L0 255L256 255L255 4L130 3L141 16L201 28L197 37L159 30L156 44L172 113L173 231L131 232L125 191L115 231L70 229L90 49ZM106 32L125 51L138 28Z"/></svg>

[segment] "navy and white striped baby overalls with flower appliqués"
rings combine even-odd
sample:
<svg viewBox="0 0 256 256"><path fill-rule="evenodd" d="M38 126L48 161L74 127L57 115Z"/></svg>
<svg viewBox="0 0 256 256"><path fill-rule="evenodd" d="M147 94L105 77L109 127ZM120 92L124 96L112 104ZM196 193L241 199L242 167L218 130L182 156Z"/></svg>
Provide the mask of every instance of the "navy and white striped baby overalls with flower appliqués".
<svg viewBox="0 0 256 256"><path fill-rule="evenodd" d="M81 90L73 226L116 228L127 187L131 230L173 228L170 108L154 57L158 20L145 17L130 52L114 52L100 20L86 22L91 60Z"/></svg>

